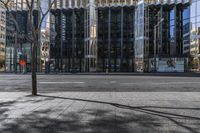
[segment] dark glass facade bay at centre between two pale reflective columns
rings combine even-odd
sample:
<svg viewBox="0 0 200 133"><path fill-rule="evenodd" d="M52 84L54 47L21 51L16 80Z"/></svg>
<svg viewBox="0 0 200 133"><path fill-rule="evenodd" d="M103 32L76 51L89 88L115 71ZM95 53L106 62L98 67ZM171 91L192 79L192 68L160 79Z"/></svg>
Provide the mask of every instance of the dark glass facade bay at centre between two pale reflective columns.
<svg viewBox="0 0 200 133"><path fill-rule="evenodd" d="M134 69L134 7L98 8L98 71Z"/></svg>

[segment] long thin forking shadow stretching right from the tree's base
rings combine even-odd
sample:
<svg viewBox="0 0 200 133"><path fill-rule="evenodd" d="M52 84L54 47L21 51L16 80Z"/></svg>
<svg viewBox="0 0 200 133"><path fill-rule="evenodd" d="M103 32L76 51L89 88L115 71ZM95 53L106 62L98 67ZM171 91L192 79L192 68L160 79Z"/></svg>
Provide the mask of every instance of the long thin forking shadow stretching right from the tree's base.
<svg viewBox="0 0 200 133"><path fill-rule="evenodd" d="M200 117L190 116L190 115L182 115L178 113L171 113L168 110L175 109L175 110L196 110L200 111L200 108L179 108L179 107L158 107L158 106L128 106L118 103L112 102L104 102L104 101L95 101L95 100L87 100L87 99L78 99L78 98L66 98L66 97L56 97L56 96L48 96L48 95L39 95L42 97L53 97L53 98L60 98L60 99L67 99L67 100L75 100L75 101L85 101L85 102L92 102L92 103L100 103L111 105L117 108L132 110L136 112L143 113L143 115L150 115L167 119L168 121L174 123L176 126L182 127L183 129L192 132L192 133L199 133L200 132ZM157 109L165 109L167 111L159 111ZM151 120L148 118L149 120ZM142 117L144 120L144 117ZM147 119L147 121L148 121ZM193 121L191 125L188 125L185 121ZM152 121L153 122L153 121ZM150 125L150 124L149 124ZM161 125L160 125L161 126ZM176 131L177 132L177 131Z"/></svg>

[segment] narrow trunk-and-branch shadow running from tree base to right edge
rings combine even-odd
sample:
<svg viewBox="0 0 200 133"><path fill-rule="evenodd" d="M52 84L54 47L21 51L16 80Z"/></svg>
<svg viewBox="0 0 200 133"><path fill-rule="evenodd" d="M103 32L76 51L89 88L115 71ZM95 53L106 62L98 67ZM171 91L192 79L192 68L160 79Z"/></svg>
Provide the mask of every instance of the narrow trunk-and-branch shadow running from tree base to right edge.
<svg viewBox="0 0 200 133"><path fill-rule="evenodd" d="M38 95L38 96L59 98L59 99L66 99L66 100L75 100L75 101L85 101L85 102L100 103L100 104L107 104L107 105L115 106L117 108L133 110L133 111L137 111L137 112L142 112L144 114L149 114L151 116L159 116L159 117L168 119L169 121L173 122L177 126L185 128L190 132L199 133L195 129L193 129L193 128L187 126L187 125L184 125L181 122L178 122L176 119L196 120L196 121L198 121L198 123L196 123L196 125L200 125L200 117L193 117L193 116L188 116L188 115L180 115L180 114L176 114L176 113L163 112L163 111L158 111L158 110L153 110L153 109L167 109L167 110L176 109L176 110L198 110L198 111L200 111L200 108L178 108L178 107L156 107L156 106L136 106L136 107L133 107L133 106L123 105L123 104L118 104L118 103L112 103L112 102L104 102L104 101L86 100L86 99L78 99L78 98L66 98L66 97L57 97L57 96L48 96L48 95ZM197 128L199 128L199 126L197 126Z"/></svg>

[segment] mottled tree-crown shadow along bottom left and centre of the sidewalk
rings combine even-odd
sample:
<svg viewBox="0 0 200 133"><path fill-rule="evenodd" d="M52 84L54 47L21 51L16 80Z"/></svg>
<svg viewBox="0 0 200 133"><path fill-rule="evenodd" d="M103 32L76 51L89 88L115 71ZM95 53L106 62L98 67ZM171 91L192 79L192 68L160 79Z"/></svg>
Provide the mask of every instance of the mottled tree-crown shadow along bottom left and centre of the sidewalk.
<svg viewBox="0 0 200 133"><path fill-rule="evenodd" d="M45 110L46 113L49 110ZM89 112L89 113L88 113ZM0 129L2 133L142 133L156 132L161 125L153 117L145 115L124 114L116 119L116 115L108 110L85 110L69 112L61 115L61 119L41 117L40 113L24 115L20 119L6 123ZM52 111L51 111L52 113ZM99 115L100 113L100 115ZM96 116L84 121L87 117ZM99 116L98 116L99 115ZM134 123L132 127L129 124Z"/></svg>

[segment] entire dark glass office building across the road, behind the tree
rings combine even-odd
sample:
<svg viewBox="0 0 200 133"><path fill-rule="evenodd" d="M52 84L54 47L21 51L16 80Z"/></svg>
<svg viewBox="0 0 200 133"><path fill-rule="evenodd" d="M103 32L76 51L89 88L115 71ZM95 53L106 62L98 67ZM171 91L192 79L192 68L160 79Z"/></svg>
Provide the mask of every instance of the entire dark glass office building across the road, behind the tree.
<svg viewBox="0 0 200 133"><path fill-rule="evenodd" d="M52 72L199 71L198 7L200 0L56 0L50 10L50 59L45 68ZM18 10L17 16L27 32L23 13ZM6 38L8 71L18 69L16 53L22 51L31 59L30 44L19 36L16 47L15 40Z"/></svg>

